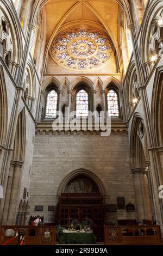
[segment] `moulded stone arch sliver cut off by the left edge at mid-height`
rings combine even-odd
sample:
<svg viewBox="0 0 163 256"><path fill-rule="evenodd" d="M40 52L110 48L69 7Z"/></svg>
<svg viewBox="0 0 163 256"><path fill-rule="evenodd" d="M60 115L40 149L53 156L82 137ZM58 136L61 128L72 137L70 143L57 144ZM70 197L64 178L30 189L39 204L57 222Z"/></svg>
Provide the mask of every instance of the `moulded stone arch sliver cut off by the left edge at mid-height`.
<svg viewBox="0 0 163 256"><path fill-rule="evenodd" d="M5 88L3 69L2 66L0 66L0 145L5 144L5 139L7 135L7 120L7 92Z"/></svg>

